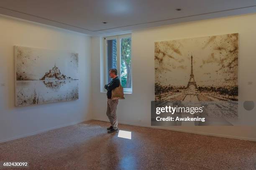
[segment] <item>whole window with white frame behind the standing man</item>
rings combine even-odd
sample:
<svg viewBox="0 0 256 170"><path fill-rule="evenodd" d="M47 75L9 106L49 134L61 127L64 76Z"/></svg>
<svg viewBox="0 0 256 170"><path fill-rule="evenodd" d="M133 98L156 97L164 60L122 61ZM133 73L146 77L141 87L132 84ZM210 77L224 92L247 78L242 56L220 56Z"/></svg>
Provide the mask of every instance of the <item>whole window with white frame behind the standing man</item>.
<svg viewBox="0 0 256 170"><path fill-rule="evenodd" d="M105 84L111 81L108 70L118 70L124 92L132 92L131 35L105 37Z"/></svg>

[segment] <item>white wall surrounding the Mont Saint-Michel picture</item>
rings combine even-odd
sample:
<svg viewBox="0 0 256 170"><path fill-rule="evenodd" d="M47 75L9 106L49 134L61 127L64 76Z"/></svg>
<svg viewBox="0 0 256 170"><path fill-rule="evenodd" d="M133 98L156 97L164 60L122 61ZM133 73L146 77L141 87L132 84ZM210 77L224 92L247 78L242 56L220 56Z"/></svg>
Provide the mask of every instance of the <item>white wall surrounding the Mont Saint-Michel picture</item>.
<svg viewBox="0 0 256 170"><path fill-rule="evenodd" d="M14 45L79 53L79 100L15 107ZM0 142L92 118L90 49L90 36L0 15Z"/></svg>

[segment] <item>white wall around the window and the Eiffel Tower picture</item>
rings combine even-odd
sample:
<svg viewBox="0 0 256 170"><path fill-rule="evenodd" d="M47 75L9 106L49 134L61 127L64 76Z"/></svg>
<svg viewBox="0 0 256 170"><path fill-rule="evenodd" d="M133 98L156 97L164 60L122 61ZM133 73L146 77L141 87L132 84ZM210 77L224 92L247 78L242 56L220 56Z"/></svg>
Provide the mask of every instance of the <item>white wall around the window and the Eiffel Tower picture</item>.
<svg viewBox="0 0 256 170"><path fill-rule="evenodd" d="M238 120L236 126L165 127L184 132L215 135L228 138L256 140L256 108L246 111L243 102L256 102L256 14L202 20L191 23L137 30L132 32L133 94L126 94L118 104L121 123L150 126L151 100L154 100L154 42L189 37L204 37L239 33ZM102 37L92 37L92 110L95 120L108 121L106 93L100 92L102 82ZM196 68L195 68L196 69Z"/></svg>

